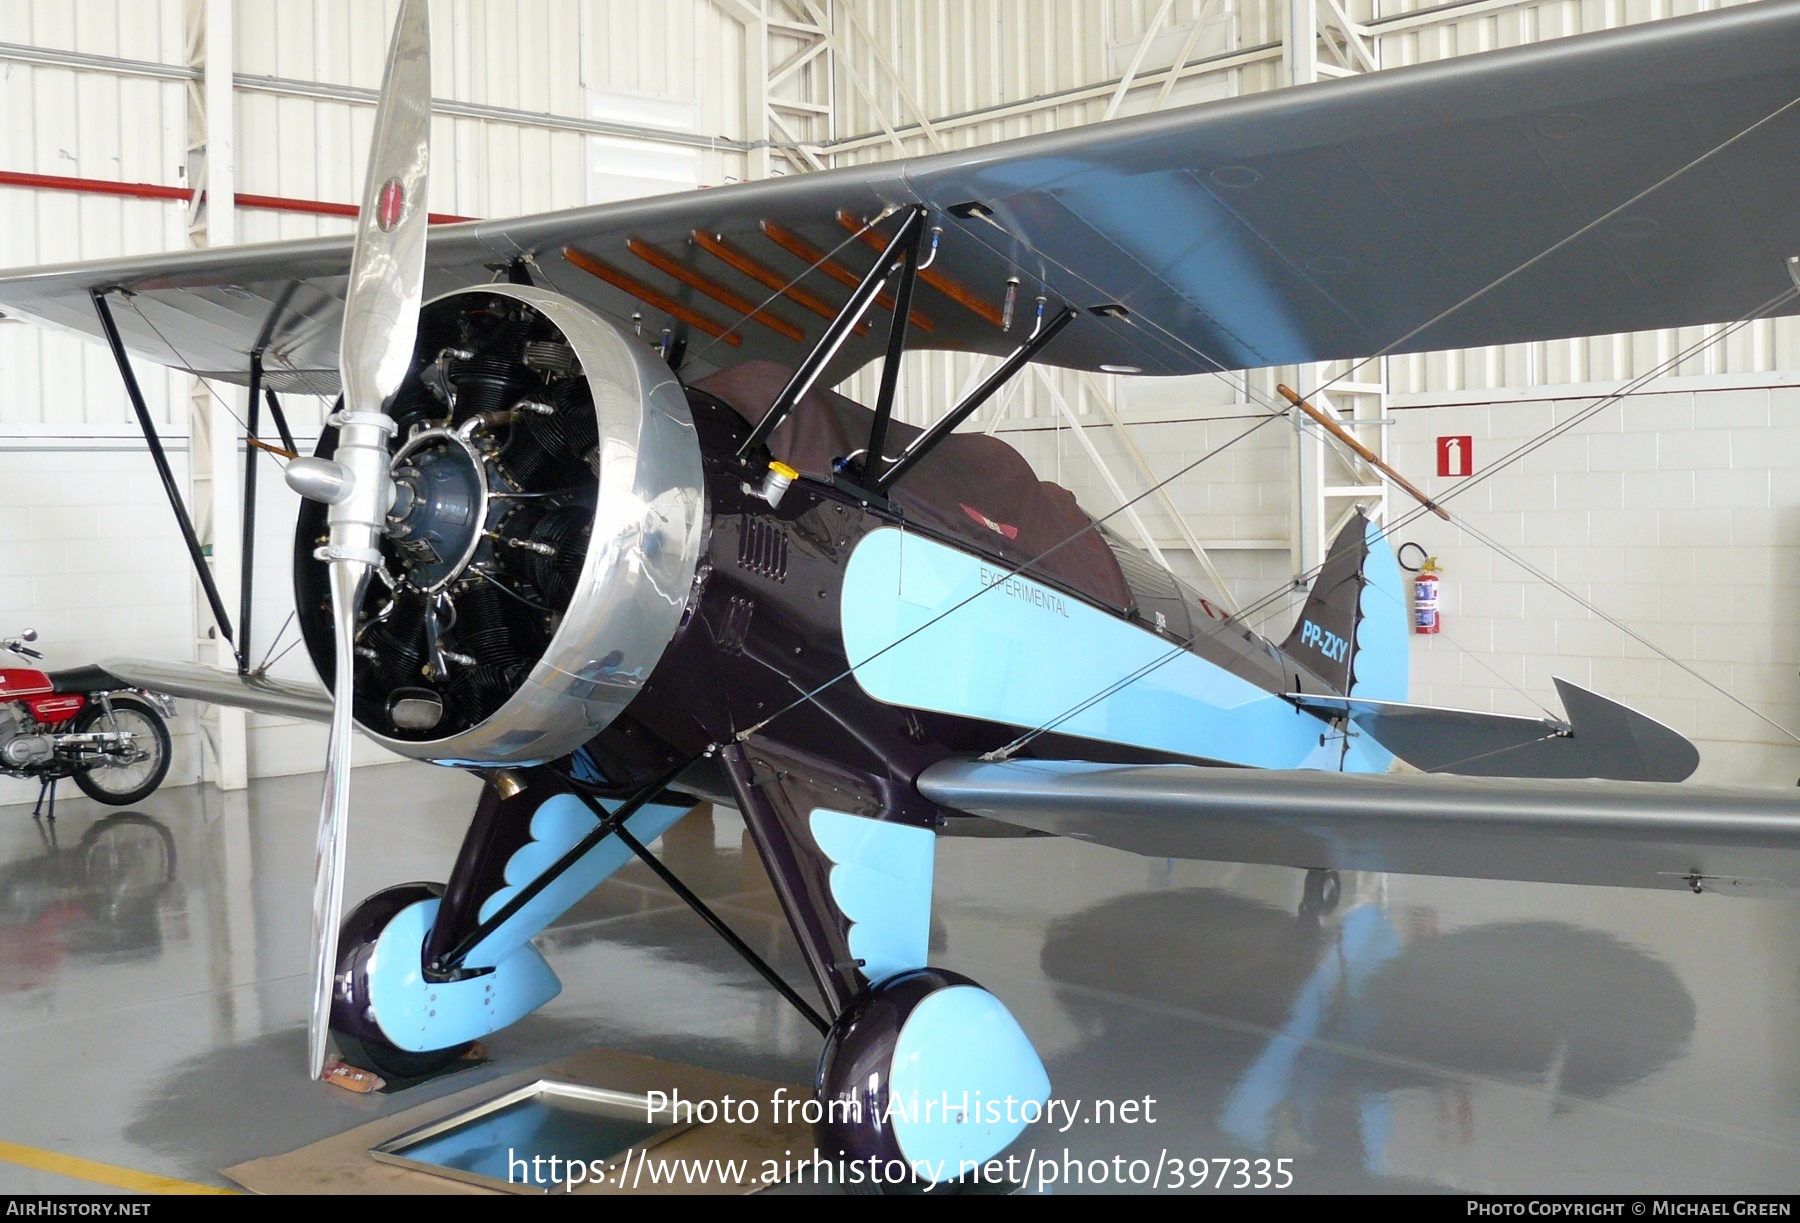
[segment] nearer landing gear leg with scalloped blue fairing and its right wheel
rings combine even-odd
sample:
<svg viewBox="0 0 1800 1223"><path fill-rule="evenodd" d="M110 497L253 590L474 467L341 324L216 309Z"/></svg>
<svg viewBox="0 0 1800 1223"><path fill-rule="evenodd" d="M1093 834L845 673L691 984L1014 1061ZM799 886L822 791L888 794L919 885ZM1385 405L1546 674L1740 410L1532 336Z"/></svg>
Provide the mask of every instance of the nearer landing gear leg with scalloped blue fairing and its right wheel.
<svg viewBox="0 0 1800 1223"><path fill-rule="evenodd" d="M815 1137L826 1158L844 1160L842 1183L918 1192L999 1155L1024 1131L1026 1104L1042 1117L1049 1075L999 998L925 965L936 834L891 809L841 811L875 789L797 749L733 744L720 756L835 1014L814 1083Z"/></svg>

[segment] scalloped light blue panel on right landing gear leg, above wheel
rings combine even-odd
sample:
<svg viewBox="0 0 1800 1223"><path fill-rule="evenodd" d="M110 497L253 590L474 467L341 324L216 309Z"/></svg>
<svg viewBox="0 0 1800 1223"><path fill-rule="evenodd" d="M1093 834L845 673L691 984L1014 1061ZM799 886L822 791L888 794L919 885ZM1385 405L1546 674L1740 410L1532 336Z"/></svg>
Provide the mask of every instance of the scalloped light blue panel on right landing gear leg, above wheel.
<svg viewBox="0 0 1800 1223"><path fill-rule="evenodd" d="M931 947L931 872L938 836L929 829L812 812L812 839L832 859L832 899L850 919L850 955L877 985L925 967Z"/></svg>

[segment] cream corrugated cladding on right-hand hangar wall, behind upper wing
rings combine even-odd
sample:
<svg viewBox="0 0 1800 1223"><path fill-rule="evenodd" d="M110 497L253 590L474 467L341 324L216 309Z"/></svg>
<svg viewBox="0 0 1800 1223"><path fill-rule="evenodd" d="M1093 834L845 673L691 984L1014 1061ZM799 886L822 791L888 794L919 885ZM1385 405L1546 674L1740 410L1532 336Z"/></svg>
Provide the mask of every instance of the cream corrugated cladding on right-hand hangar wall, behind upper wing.
<svg viewBox="0 0 1800 1223"><path fill-rule="evenodd" d="M1377 63L1402 67L1735 2L1552 0L1496 7L1355 0L1343 7L1354 20L1373 25L1370 49ZM1282 61L1287 0L1174 0L1166 14L1157 0L857 0L850 7L860 22L855 32L864 36L842 40L839 131L844 135L832 146L833 164L972 148L1094 122L1107 115L1112 86L1147 31L1152 38L1138 65L1145 83L1120 99L1118 115L1159 103L1177 106L1278 88L1287 79ZM1422 29L1406 25L1408 14L1424 16L1438 7L1476 11L1460 20L1449 13ZM1157 16L1163 20L1150 31ZM1384 34L1384 23L1406 27ZM1165 97L1161 70L1183 50L1193 68ZM932 119L936 139L918 126L920 108ZM896 128L898 140L887 139L884 126ZM1622 285L1620 292L1629 288ZM1683 328L1397 357L1388 362L1388 382L1395 393L1604 382L1638 376L1696 346L1699 351L1679 362L1676 375L1800 366L1800 319L1759 321L1705 346L1715 331ZM945 362L958 369L967 364L947 357L923 362L932 373L922 375L920 385L929 385L931 394L961 382L958 373L940 371ZM1292 382L1292 371L1262 371L1256 385L1273 393L1282 378ZM931 409L914 396L905 411ZM1013 407L1013 416L1049 414L1055 409L1040 387Z"/></svg>

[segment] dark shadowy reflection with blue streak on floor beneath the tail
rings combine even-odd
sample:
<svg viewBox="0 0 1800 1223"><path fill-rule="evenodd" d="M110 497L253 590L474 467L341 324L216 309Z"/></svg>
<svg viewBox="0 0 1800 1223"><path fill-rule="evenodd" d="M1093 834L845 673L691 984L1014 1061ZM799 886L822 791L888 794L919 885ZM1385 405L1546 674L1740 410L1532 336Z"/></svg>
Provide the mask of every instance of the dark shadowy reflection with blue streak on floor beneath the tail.
<svg viewBox="0 0 1800 1223"><path fill-rule="evenodd" d="M1472 1146L1471 1084L1521 1084L1561 1113L1688 1052L1697 1007L1660 956L1568 920L1438 933L1429 910L1397 919L1384 883L1363 879L1323 915L1222 888L1120 895L1051 922L1040 964L1073 987L1064 1001L1096 1052L1143 1043L1112 998L1251 1036L1195 1048L1186 1074L1165 1048L1161 1081L1190 1104L1211 1097L1206 1129L1240 1151L1352 1156L1373 1178L1429 1167L1420 1142ZM1422 1104L1435 1137L1418 1135Z"/></svg>

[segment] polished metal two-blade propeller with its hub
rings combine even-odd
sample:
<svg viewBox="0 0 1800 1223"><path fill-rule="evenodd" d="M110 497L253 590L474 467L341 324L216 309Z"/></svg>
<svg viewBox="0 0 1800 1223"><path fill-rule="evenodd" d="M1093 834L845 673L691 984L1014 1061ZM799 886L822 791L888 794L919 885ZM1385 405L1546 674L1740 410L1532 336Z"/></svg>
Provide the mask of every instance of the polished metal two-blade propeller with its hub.
<svg viewBox="0 0 1800 1223"><path fill-rule="evenodd" d="M344 847L349 834L349 756L355 735L355 634L369 573L382 564L380 537L394 501L383 411L412 362L425 290L425 171L430 160L432 58L427 0L403 0L387 50L382 101L356 220L356 247L344 299L338 375L344 409L337 452L295 459L288 485L331 506L329 540L315 555L331 566L331 621L337 666L331 684L331 740L319 811L313 875L313 1010L306 1028L308 1064L326 1066L337 938L344 910Z"/></svg>

